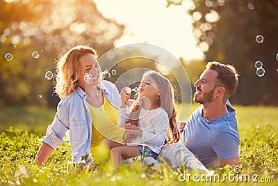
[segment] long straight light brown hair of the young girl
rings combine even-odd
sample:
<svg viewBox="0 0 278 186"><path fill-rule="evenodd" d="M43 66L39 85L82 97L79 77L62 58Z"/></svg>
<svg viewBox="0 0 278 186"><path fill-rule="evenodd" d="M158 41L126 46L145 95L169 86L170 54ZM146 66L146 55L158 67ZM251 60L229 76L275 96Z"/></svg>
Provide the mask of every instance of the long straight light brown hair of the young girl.
<svg viewBox="0 0 278 186"><path fill-rule="evenodd" d="M144 73L143 77L150 76L156 82L158 86L158 100L156 104L158 107L162 107L168 114L170 127L167 130L167 135L165 139L166 144L172 144L174 142L179 141L179 131L177 130L177 111L174 107L174 88L171 82L163 75L159 74L154 70L149 70ZM140 98L138 97L133 104L133 108L131 111L131 116L129 120L131 124L138 125L138 118L140 113Z"/></svg>

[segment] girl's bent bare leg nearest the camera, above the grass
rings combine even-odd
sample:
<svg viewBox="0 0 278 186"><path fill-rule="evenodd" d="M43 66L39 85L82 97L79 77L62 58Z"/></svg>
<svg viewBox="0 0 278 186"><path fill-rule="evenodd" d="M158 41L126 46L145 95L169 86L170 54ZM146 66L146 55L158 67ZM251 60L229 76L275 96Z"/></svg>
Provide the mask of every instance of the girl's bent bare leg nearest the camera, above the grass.
<svg viewBox="0 0 278 186"><path fill-rule="evenodd" d="M110 160L113 166L119 167L122 160L139 155L141 155L141 152L136 146L118 146L111 149Z"/></svg>

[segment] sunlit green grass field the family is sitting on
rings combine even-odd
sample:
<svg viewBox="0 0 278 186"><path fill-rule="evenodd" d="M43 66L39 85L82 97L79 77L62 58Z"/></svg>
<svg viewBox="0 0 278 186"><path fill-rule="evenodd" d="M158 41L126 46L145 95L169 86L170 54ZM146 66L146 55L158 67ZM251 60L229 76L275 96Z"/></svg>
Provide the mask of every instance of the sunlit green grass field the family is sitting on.
<svg viewBox="0 0 278 186"><path fill-rule="evenodd" d="M197 107L193 104L190 112ZM195 173L174 171L167 164L156 167L140 162L126 164L117 171L101 166L95 172L77 173L68 164L71 152L67 143L54 150L46 166L38 169L32 163L55 109L0 108L0 185L197 185L197 181L203 185L277 185L278 108L234 108L240 133L241 172L236 174L229 166L215 169L219 180L217 176L206 180L201 174L193 180ZM185 173L192 175L190 179L184 180Z"/></svg>

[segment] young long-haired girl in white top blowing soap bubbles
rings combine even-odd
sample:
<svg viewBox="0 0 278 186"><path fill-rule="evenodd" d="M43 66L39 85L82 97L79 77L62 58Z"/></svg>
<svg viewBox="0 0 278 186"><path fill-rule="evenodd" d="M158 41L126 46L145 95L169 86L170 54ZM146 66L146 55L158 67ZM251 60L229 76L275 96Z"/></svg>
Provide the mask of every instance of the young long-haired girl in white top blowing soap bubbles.
<svg viewBox="0 0 278 186"><path fill-rule="evenodd" d="M125 127L126 144L104 139L103 146L111 149L111 163L120 166L129 157L151 156L156 158L165 143L179 141L174 108L174 91L168 79L153 70L145 72L140 83L138 98L131 111L127 107L130 93L121 91L122 105L119 109L118 125ZM177 128L177 127L176 127Z"/></svg>

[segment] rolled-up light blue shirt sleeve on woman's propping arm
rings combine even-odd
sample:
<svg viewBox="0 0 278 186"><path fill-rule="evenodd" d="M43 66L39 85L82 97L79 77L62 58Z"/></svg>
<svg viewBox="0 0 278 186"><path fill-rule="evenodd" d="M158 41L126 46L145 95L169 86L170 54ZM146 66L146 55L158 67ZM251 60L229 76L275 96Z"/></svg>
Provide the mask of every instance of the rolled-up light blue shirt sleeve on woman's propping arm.
<svg viewBox="0 0 278 186"><path fill-rule="evenodd" d="M64 100L61 100L57 107L57 112L51 125L47 127L47 132L42 141L56 149L63 143L65 132L69 130L69 110Z"/></svg>

